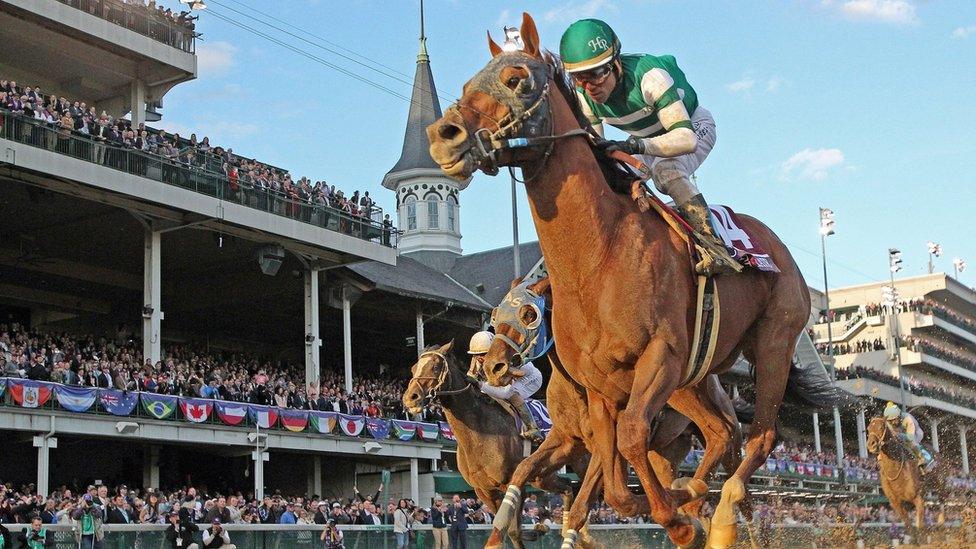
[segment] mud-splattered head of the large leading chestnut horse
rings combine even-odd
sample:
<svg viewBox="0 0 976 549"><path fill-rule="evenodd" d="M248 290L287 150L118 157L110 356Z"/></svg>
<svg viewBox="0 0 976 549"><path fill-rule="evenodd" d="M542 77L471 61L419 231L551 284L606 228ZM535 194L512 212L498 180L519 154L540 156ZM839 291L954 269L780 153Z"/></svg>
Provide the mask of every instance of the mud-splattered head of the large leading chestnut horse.
<svg viewBox="0 0 976 549"><path fill-rule="evenodd" d="M552 132L548 101L554 63L543 56L527 13L521 36L522 50L503 51L489 34L491 61L464 85L461 99L427 127L430 155L447 175L466 179L478 169L494 175L498 166L522 165L545 154L544 147L503 143Z"/></svg>

